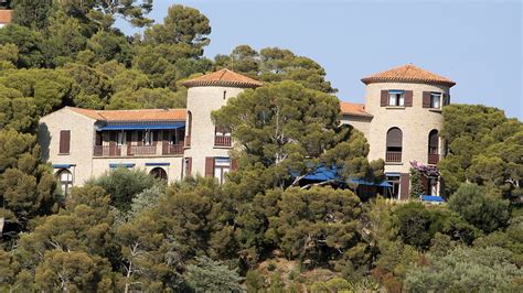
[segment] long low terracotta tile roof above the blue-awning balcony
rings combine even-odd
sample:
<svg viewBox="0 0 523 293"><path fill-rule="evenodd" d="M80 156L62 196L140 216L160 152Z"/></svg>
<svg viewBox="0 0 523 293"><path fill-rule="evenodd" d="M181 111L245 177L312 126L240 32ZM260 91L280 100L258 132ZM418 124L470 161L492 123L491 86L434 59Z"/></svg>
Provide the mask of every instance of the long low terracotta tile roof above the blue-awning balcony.
<svg viewBox="0 0 523 293"><path fill-rule="evenodd" d="M88 118L107 122L185 121L186 113L185 109L90 110L67 108Z"/></svg>

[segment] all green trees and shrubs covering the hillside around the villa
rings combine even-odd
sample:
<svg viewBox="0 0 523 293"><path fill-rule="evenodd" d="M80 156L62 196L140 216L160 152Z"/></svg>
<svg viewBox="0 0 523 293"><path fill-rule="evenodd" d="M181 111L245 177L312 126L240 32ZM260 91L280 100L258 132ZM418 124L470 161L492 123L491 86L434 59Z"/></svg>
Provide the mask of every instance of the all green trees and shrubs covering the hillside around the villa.
<svg viewBox="0 0 523 293"><path fill-rule="evenodd" d="M0 291L523 291L523 127L503 111L444 108L448 204L362 202L299 187L319 164L383 178L314 61L248 45L209 59L210 20L183 6L162 23L146 18L152 0L13 6L0 29ZM145 31L124 35L115 18ZM224 185L117 169L62 195L40 117L184 107L182 82L223 67L266 83L213 112L244 146Z"/></svg>

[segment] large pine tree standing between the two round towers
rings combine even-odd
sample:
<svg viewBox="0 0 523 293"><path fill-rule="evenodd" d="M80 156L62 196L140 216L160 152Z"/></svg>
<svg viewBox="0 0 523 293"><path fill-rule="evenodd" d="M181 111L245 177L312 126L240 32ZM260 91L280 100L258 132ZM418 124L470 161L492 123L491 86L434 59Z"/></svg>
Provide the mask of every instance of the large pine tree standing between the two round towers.
<svg viewBox="0 0 523 293"><path fill-rule="evenodd" d="M297 83L246 90L212 115L245 150L241 167L263 164L267 174L258 178L269 181L269 187L298 185L318 165L341 166L354 177L375 174L372 167L383 170L369 164L364 137L339 126L339 100Z"/></svg>

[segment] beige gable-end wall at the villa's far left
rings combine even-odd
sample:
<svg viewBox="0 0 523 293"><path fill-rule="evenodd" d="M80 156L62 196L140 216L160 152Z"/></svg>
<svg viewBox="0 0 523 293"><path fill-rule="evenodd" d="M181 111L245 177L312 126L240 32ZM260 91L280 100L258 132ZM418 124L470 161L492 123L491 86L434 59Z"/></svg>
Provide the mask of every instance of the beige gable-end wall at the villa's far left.
<svg viewBox="0 0 523 293"><path fill-rule="evenodd" d="M92 174L95 120L63 108L42 117L39 122L38 141L42 146L42 159L52 164L75 164L71 169L73 185L82 185ZM68 154L58 154L60 131L71 130ZM55 169L55 172L60 170Z"/></svg>

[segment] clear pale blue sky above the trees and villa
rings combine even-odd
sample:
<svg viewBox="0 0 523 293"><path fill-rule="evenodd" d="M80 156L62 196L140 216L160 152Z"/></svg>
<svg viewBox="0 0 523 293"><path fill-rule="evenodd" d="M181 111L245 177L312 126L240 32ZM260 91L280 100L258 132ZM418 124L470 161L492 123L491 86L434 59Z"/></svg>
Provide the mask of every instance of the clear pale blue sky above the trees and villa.
<svg viewBox="0 0 523 293"><path fill-rule="evenodd" d="M210 19L210 58L239 44L289 48L317 61L337 96L354 102L363 101L362 77L413 63L457 82L452 102L493 106L523 120L519 0L154 0L149 17L162 22L174 3Z"/></svg>

